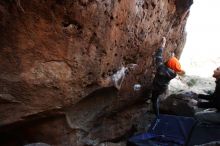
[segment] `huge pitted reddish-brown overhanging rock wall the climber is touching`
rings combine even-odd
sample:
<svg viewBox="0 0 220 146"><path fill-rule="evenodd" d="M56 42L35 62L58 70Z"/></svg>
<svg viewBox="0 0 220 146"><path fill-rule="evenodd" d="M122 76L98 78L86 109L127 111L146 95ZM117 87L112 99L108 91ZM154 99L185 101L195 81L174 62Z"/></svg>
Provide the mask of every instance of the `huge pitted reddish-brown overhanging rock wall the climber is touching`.
<svg viewBox="0 0 220 146"><path fill-rule="evenodd" d="M65 121L67 115L70 126L63 131L76 137L72 145L80 145L86 136L90 144L123 137L131 129L130 116L138 117L140 110L141 93L133 92L133 84L150 88L152 54L162 36L168 40L165 58L169 51L180 55L190 4L191 0L0 1L1 131L50 116L62 115ZM102 80L129 63L139 66L120 92L103 89ZM64 123L51 132L60 132L60 139L70 137L61 132ZM44 126L39 129L47 133ZM108 135L101 134L105 130ZM29 143L71 145L71 140L63 144L50 134L39 137L34 132Z"/></svg>

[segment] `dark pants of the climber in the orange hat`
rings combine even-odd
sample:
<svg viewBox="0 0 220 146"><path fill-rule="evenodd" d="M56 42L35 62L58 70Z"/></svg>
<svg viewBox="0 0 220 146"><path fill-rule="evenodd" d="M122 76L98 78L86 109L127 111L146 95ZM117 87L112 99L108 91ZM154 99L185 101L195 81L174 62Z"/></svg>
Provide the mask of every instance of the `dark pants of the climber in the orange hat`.
<svg viewBox="0 0 220 146"><path fill-rule="evenodd" d="M159 96L163 94L165 91L166 89L152 91L151 101L152 101L153 110L156 116L159 116L159 104L160 104Z"/></svg>

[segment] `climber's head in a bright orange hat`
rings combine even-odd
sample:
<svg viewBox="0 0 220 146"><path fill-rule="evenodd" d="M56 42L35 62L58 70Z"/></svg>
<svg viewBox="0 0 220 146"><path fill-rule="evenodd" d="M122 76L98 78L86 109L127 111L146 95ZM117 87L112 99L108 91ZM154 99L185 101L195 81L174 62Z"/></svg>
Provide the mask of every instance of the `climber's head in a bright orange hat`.
<svg viewBox="0 0 220 146"><path fill-rule="evenodd" d="M167 65L167 67L169 67L170 69L175 71L178 75L185 74L185 71L182 70L182 68L181 68L181 64L180 64L179 60L174 55L172 55L172 57L169 58L166 65Z"/></svg>

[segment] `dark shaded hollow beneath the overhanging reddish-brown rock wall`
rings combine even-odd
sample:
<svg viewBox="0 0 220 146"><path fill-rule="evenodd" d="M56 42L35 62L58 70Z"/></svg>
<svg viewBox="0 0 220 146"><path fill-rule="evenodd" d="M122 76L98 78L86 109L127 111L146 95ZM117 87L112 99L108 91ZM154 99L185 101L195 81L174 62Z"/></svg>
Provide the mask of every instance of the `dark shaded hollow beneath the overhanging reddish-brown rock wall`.
<svg viewBox="0 0 220 146"><path fill-rule="evenodd" d="M129 104L124 102L118 98L115 87L101 88L83 98L77 106L38 113L21 122L2 126L0 143L2 146L125 145L126 140L137 132L139 118L146 112L142 103L140 98Z"/></svg>

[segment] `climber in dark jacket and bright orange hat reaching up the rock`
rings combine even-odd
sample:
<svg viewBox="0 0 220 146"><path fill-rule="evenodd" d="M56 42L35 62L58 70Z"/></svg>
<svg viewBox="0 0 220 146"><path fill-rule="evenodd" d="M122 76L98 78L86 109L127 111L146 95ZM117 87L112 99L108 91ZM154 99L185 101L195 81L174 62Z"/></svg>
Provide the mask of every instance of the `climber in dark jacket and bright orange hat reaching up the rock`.
<svg viewBox="0 0 220 146"><path fill-rule="evenodd" d="M163 50L165 45L166 38L163 37L162 45L155 54L156 75L153 80L151 101L157 116L159 115L159 96L167 90L170 80L175 78L177 74L185 74L185 71L181 69L179 60L174 55L167 62L164 62Z"/></svg>

